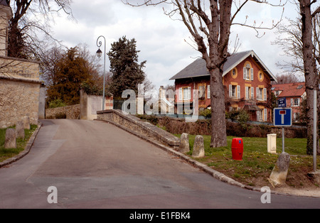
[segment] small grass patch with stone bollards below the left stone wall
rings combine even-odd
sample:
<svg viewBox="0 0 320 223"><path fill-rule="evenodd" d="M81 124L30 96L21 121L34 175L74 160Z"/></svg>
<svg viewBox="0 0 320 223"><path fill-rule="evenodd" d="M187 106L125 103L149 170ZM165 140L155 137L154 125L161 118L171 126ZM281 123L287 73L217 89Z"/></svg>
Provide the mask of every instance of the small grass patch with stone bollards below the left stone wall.
<svg viewBox="0 0 320 223"><path fill-rule="evenodd" d="M15 128L15 127L11 127ZM28 143L29 138L32 136L33 132L38 128L37 125L31 125L31 129L25 129L25 138L18 138L16 141L16 148L4 148L4 140L6 137L6 129L0 129L0 162L5 161L8 158L12 158L21 151L24 150L26 144Z"/></svg>

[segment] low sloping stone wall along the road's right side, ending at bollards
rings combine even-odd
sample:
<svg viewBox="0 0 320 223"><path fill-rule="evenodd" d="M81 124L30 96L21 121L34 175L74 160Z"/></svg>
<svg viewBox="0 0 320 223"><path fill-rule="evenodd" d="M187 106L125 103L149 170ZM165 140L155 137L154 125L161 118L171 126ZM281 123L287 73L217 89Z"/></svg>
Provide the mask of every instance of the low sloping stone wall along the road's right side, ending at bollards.
<svg viewBox="0 0 320 223"><path fill-rule="evenodd" d="M131 114L124 114L121 110L105 110L97 112L97 120L108 121L122 129L134 131L134 133L153 138L166 146L178 149L180 138L159 129L147 121L142 121Z"/></svg>

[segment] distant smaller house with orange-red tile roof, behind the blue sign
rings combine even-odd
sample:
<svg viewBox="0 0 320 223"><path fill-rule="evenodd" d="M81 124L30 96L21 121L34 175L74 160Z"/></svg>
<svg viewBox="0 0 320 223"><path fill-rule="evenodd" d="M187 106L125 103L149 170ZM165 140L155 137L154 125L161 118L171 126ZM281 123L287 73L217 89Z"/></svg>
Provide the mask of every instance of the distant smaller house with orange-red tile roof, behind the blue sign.
<svg viewBox="0 0 320 223"><path fill-rule="evenodd" d="M292 108L295 121L299 116L302 100L306 97L306 86L304 82L272 85L272 92L279 98L285 98L287 107Z"/></svg>

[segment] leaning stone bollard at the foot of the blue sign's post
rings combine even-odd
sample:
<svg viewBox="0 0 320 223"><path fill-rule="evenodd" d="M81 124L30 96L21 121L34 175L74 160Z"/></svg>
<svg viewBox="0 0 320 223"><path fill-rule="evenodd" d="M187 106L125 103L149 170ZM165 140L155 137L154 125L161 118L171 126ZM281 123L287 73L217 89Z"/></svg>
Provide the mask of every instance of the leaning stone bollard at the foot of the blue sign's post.
<svg viewBox="0 0 320 223"><path fill-rule="evenodd" d="M288 153L281 153L270 178L268 178L273 187L286 183L289 163L290 155Z"/></svg>

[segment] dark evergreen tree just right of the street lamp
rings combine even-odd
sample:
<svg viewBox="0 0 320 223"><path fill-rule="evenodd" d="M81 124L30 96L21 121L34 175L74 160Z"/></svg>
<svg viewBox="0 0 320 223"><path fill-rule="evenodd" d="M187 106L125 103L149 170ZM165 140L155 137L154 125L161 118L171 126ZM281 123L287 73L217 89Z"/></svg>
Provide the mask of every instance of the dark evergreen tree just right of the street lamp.
<svg viewBox="0 0 320 223"><path fill-rule="evenodd" d="M126 89L133 89L137 94L138 85L142 84L146 78L142 70L146 61L138 62L140 51L136 49L136 43L134 38L127 40L124 36L112 43L111 50L107 53L110 59L110 72L112 72L109 91L114 98L121 97Z"/></svg>

